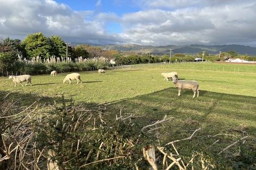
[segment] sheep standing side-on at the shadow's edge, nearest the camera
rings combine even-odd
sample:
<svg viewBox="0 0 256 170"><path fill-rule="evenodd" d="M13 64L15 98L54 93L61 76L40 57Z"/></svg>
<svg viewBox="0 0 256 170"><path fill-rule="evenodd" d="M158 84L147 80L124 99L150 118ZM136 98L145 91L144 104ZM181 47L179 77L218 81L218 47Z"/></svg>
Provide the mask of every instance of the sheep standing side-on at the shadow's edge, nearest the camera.
<svg viewBox="0 0 256 170"><path fill-rule="evenodd" d="M197 81L187 81L187 80L178 80L177 78L173 78L173 84L176 88L178 88L178 96L180 96L181 89L192 89L194 92L193 98L199 97L199 84Z"/></svg>

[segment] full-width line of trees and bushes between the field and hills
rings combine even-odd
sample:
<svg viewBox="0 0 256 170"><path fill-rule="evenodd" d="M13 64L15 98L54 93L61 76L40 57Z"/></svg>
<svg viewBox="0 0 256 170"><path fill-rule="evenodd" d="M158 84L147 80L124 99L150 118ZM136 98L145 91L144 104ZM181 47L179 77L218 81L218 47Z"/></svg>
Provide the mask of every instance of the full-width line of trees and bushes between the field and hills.
<svg viewBox="0 0 256 170"><path fill-rule="evenodd" d="M18 56L22 56L26 62L18 62ZM72 66L66 66L65 61L68 58L74 62ZM0 39L0 72L2 75L7 75L8 72L19 72L19 73L34 73L33 70L38 73L48 73L54 67L48 68L48 71L42 70L43 66L37 67L36 65L29 65L29 60L35 60L40 58L42 61L50 57L54 59L62 58L64 63L61 66L56 66L59 71L87 71L94 70L96 68L102 68L102 65L112 66L108 64L107 60L105 64L100 64L100 66L94 66L92 62L89 66L79 67L75 64L78 58L83 59L93 59L102 56L106 59L114 59L117 65L127 65L127 64L139 64L139 63L153 63L153 62L180 62L180 61L194 61L195 58L203 58L203 52L191 55L191 54L181 54L176 53L169 55L156 55L150 53L132 53L132 52L119 52L117 50L104 50L101 47L90 46L87 44L70 46L65 43L60 36L51 35L46 37L44 34L35 33L27 35L26 38L21 41L18 39ZM256 61L255 56L240 55L235 51L222 52L219 54L209 54L204 52L204 60L207 61L224 61L227 58L240 58L248 61ZM21 61L21 59L19 59ZM71 62L69 62L71 64ZM36 67L35 67L36 66ZM46 65L48 66L48 65ZM65 66L65 67L64 67ZM74 68L74 69L69 69ZM25 71L26 70L26 71Z"/></svg>

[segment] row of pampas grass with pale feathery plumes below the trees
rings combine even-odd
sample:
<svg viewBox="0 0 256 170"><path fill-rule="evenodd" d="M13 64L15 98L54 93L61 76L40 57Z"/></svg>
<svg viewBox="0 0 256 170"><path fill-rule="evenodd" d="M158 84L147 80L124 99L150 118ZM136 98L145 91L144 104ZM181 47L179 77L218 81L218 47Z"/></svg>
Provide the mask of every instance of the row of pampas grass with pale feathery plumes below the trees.
<svg viewBox="0 0 256 170"><path fill-rule="evenodd" d="M59 73L76 72L76 71L94 71L98 69L107 69L108 59L102 56L90 59L83 59L82 56L76 58L75 61L70 57L51 56L42 60L40 56L32 59L22 58L18 56L13 65L10 67L9 74L48 74L53 70Z"/></svg>

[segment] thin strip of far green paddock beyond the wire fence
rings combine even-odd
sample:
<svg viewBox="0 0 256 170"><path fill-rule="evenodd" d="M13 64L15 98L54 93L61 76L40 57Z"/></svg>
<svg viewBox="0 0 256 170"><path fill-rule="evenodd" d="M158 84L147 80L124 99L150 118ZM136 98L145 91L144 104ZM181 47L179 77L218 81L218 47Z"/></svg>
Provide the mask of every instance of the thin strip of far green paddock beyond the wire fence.
<svg viewBox="0 0 256 170"><path fill-rule="evenodd" d="M170 68L184 70L209 70L217 72L256 73L256 65L218 64L215 62L174 62L115 66L114 69Z"/></svg>

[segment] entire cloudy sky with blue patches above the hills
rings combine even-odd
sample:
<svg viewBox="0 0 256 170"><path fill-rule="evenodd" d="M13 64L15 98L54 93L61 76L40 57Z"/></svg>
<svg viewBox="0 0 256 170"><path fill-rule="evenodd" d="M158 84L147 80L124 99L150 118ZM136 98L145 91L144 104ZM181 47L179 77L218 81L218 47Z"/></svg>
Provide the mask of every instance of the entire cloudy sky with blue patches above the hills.
<svg viewBox="0 0 256 170"><path fill-rule="evenodd" d="M0 0L0 37L256 47L255 0Z"/></svg>

